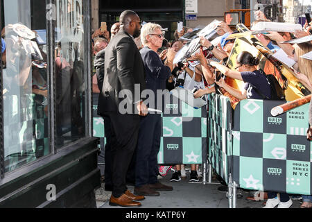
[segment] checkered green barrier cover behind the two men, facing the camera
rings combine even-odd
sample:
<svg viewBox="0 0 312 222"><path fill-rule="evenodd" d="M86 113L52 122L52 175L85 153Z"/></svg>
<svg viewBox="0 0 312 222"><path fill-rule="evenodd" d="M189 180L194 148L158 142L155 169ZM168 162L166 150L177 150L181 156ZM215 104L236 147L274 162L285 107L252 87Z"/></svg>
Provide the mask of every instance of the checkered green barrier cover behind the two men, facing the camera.
<svg viewBox="0 0 312 222"><path fill-rule="evenodd" d="M94 137L104 137L104 123L98 117L97 98L93 97ZM176 101L176 103L173 103ZM102 146L102 145L101 145ZM105 142L103 144L105 146ZM104 148L104 147L102 147ZM171 95L162 114L159 164L201 164L207 159L207 108L195 109Z"/></svg>

